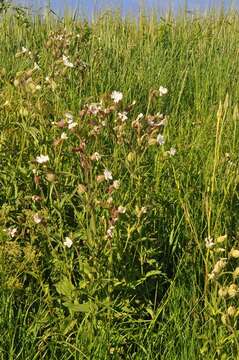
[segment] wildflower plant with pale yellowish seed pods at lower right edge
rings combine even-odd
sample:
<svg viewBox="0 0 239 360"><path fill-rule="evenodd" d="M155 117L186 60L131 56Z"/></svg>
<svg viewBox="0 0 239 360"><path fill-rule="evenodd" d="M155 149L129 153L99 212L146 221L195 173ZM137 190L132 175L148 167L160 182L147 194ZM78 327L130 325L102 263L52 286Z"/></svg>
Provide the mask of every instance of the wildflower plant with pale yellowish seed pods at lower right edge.
<svg viewBox="0 0 239 360"><path fill-rule="evenodd" d="M239 251L230 248L227 235L205 240L210 272L206 274L208 284L208 309L219 328L225 330L225 342L238 337L238 263ZM234 342L234 340L232 340ZM236 341L235 346L238 348Z"/></svg>

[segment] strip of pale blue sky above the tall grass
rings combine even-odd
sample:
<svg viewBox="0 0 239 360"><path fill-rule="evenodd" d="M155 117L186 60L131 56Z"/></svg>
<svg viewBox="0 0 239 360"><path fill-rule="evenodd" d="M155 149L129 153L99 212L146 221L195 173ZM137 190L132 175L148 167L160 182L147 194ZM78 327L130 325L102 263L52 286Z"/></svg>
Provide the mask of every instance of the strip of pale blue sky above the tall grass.
<svg viewBox="0 0 239 360"><path fill-rule="evenodd" d="M41 7L49 0L16 0L17 3L22 4L36 4ZM224 3L225 7L229 7L233 4L239 8L239 0L187 0L187 5L190 10L201 9L205 10L211 6L220 6ZM123 13L131 12L135 13L139 8L140 3L144 3L149 9L156 7L159 9L165 9L172 5L174 9L178 6L183 6L185 0L50 0L51 8L59 12L64 7L69 7L75 10L78 6L84 10L87 15L92 14L94 9L102 8L121 8Z"/></svg>

